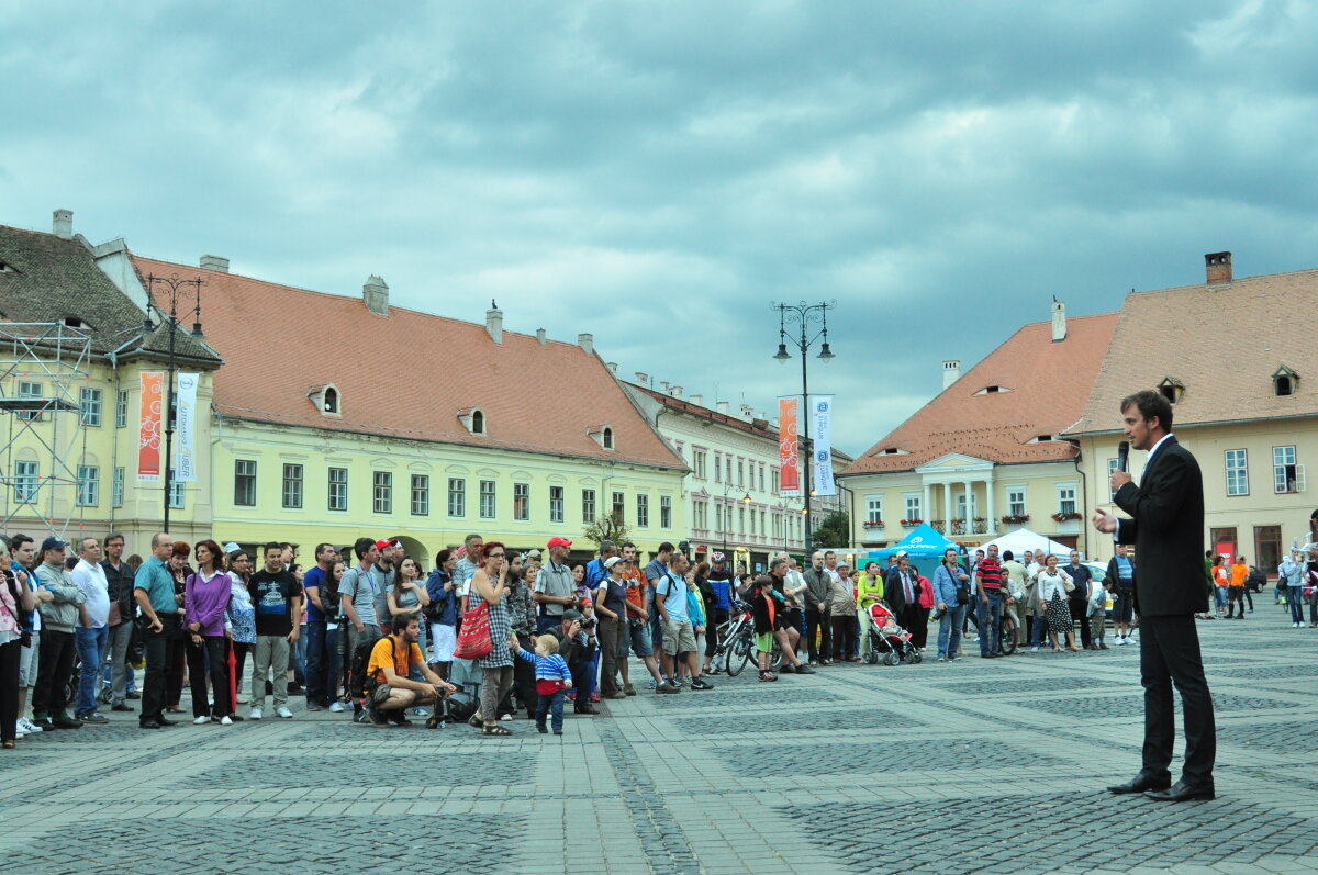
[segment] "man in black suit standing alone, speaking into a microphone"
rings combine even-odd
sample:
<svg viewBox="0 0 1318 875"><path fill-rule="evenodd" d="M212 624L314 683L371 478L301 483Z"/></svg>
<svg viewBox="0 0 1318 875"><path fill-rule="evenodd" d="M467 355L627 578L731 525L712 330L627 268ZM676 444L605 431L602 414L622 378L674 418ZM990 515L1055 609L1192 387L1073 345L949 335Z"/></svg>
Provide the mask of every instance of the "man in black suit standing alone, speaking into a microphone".
<svg viewBox="0 0 1318 875"><path fill-rule="evenodd" d="M1131 515L1094 513L1094 527L1119 544L1136 544L1140 576L1135 610L1140 614L1140 681L1144 685L1144 750L1140 774L1114 793L1140 793L1160 801L1214 799L1213 763L1217 727L1213 696L1203 679L1194 614L1207 610L1203 586L1203 477L1199 464L1172 434L1172 405L1156 391L1122 401L1126 436L1149 451L1136 486L1124 470L1112 472L1116 505ZM1172 684L1185 710L1185 766L1170 784L1176 735Z"/></svg>

